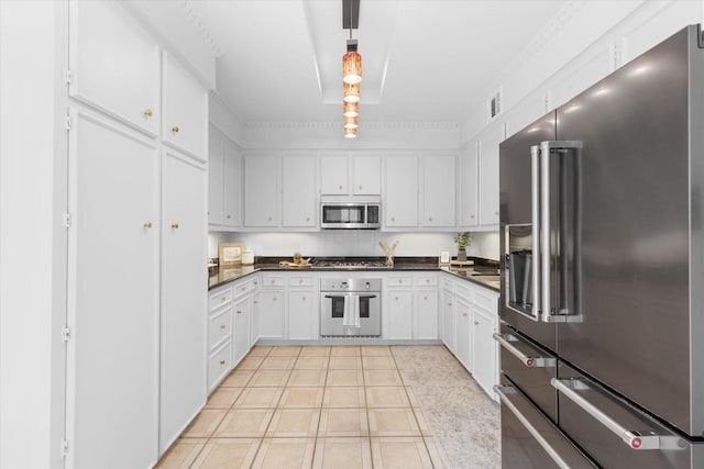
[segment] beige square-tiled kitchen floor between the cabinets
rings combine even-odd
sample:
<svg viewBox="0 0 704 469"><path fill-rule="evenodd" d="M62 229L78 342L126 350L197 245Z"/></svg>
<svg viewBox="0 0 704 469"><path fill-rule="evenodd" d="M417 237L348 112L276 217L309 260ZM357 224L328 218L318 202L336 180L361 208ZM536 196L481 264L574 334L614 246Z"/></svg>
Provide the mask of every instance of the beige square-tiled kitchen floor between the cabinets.
<svg viewBox="0 0 704 469"><path fill-rule="evenodd" d="M498 418L442 346L257 346L157 468L499 468Z"/></svg>

